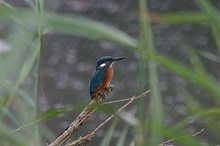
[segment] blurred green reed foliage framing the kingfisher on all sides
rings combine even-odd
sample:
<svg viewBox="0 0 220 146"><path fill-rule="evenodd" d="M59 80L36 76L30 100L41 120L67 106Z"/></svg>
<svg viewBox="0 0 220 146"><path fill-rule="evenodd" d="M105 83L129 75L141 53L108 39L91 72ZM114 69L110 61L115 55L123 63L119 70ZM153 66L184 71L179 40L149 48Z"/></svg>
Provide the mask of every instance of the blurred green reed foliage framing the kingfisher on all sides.
<svg viewBox="0 0 220 146"><path fill-rule="evenodd" d="M200 138L191 137L185 128L189 121L200 121L205 124L205 130L215 137L220 135L220 123L218 108L220 104L220 82L210 75L203 68L201 57L207 57L216 63L219 61L219 54L203 52L196 54L189 52L189 60L192 67L181 63L180 60L157 52L154 46L154 37L151 30L151 22L184 24L196 23L208 25L216 41L217 50L220 53L220 15L208 0L197 0L201 12L184 12L169 14L151 15L147 10L146 0L139 0L140 8L140 38L136 40L126 33L88 18L80 16L68 16L44 12L43 1L38 0L36 4L27 1L30 8L18 8L8 5L5 2L0 4L0 21L11 27L11 31L4 41L9 44L5 52L0 52L0 145L44 145L42 137L49 137L50 134L39 134L38 122L52 118L61 113L70 111L69 109L56 109L42 113L37 117L37 88L39 87L39 59L43 45L42 36L48 32L69 33L71 35L90 38L94 40L105 40L126 46L129 50L138 53L142 58L140 64L140 78L149 78L151 92L150 111L145 115L144 109L147 105L141 101L137 113L138 124L133 124L137 129L133 139L126 139L128 125L123 129L121 139L117 145L124 145L125 141L131 141L136 145L157 145L162 139L172 139L182 137L176 141L177 145L201 145ZM145 74L145 61L149 61L149 75ZM217 62L219 65L219 62ZM216 102L215 107L204 107L190 92L181 89L179 92L185 99L190 116L170 127L164 127L164 111L162 96L159 90L158 66L164 67L169 72L185 79L195 87L203 89L210 94ZM142 73L141 73L142 72ZM25 80L33 76L31 86L26 85ZM144 84L144 83L143 83ZM144 90L144 86L140 91ZM19 109L19 110L17 110ZM144 118L141 115L145 115ZM123 116L121 114L120 116ZM8 122L10 121L10 122ZM34 122L35 121L35 122ZM21 127L25 124L33 123L22 128L19 132L13 131L14 127ZM125 120L126 122L126 120ZM129 123L129 122L126 122ZM117 126L114 121L110 126L106 137L103 138L102 145L110 145L112 133ZM149 137L146 138L146 135ZM187 137L188 136L188 137ZM212 142L204 145L213 145Z"/></svg>

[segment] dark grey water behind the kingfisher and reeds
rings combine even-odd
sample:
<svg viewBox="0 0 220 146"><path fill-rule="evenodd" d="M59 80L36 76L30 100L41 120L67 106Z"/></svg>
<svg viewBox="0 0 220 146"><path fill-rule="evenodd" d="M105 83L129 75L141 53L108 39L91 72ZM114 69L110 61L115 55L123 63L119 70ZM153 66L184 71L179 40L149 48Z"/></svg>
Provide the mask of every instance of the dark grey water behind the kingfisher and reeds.
<svg viewBox="0 0 220 146"><path fill-rule="evenodd" d="M220 3L212 1L216 7ZM17 2L17 5L24 5ZM138 38L138 1L137 0L48 0L46 9L63 14L77 14L93 20L110 24L126 32L134 38ZM150 0L149 10L153 13L200 11L194 0ZM189 63L187 48L190 46L199 50L216 53L216 45L211 30L206 25L195 24L153 24L152 26L156 49L166 55L184 63ZM138 93L138 66L140 57L127 50L123 46L104 41L93 41L65 34L50 33L44 36L44 50L42 56L42 86L45 95L39 91L39 109L46 111L70 105L87 103L90 101L88 84L91 74L96 66L98 58L105 56L127 56L126 60L114 64L115 76L112 83L117 89L111 93L111 97L131 97ZM217 74L217 69L206 61L206 68L211 75ZM146 76L148 71L146 70ZM164 68L159 68L160 89L163 97L165 111L165 125L169 126L187 115L187 109L183 104L183 97L178 94L177 88L187 88L201 102L212 105L210 95L201 89L191 87L189 84L169 73ZM148 82L148 80L146 80ZM148 89L148 87L146 87ZM127 109L136 110L136 104ZM62 116L46 121L55 135L63 131L77 116L79 111L66 113ZM106 117L98 113L91 117L83 126L79 135L84 135L93 130L101 119ZM123 122L122 122L123 124ZM109 124L110 125L110 124ZM189 131L195 131L200 125L189 124ZM102 128L95 136L91 145L98 145L107 131L108 126ZM115 133L115 138L120 135L120 125ZM130 129L130 137L134 135L134 129ZM211 135L205 136L207 140L217 143L217 139ZM204 138L205 139L205 138ZM128 141L129 143L130 141ZM218 141L219 142L219 141Z"/></svg>

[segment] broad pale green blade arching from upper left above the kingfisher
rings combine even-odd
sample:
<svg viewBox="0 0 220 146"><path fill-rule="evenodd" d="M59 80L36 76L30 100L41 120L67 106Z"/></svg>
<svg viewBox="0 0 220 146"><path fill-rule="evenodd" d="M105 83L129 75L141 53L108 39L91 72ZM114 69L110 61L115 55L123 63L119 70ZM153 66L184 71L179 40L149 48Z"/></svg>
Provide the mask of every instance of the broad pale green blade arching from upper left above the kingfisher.
<svg viewBox="0 0 220 146"><path fill-rule="evenodd" d="M49 12L35 13L28 9L9 9L0 5L0 18L9 24L19 20L27 28L51 28L52 31L68 33L75 36L86 37L95 40L106 40L129 47L136 47L137 41L124 32L100 22L76 15L60 15Z"/></svg>

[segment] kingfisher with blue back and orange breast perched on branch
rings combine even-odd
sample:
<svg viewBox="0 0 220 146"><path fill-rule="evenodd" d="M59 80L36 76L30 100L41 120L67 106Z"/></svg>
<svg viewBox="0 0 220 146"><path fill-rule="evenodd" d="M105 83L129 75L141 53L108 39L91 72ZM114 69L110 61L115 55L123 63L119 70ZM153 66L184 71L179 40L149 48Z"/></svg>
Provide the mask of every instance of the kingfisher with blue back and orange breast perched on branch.
<svg viewBox="0 0 220 146"><path fill-rule="evenodd" d="M104 56L98 60L95 71L93 72L91 81L89 83L89 92L92 99L110 84L114 73L112 64L115 61L125 58L126 57Z"/></svg>

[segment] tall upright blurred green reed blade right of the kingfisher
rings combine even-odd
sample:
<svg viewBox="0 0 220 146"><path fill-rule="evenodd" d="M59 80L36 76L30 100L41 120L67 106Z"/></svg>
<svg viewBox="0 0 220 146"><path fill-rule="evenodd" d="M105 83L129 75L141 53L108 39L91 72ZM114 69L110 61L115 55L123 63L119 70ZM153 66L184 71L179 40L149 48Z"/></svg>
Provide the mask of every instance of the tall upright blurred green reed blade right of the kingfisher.
<svg viewBox="0 0 220 146"><path fill-rule="evenodd" d="M147 0L139 0L140 7L140 54L147 55L149 58L153 57L152 55L156 51L154 46L154 36L151 29L151 23L149 20L149 11L147 8ZM150 102L150 138L149 145L157 145L160 142L162 137L162 129L163 129L163 104L161 100L161 93L159 89L159 76L158 76L158 64L155 62L149 62L149 86L151 89L151 102ZM141 108L141 107L140 107ZM143 112L143 108L140 109ZM145 118L145 124L147 123L147 119ZM141 116L139 116L141 119ZM141 121L140 121L141 123ZM143 125L141 125L143 129ZM140 130L140 131L141 131ZM145 137L144 131L139 133ZM136 141L137 145L147 145L146 140L143 139L143 143L140 141Z"/></svg>

